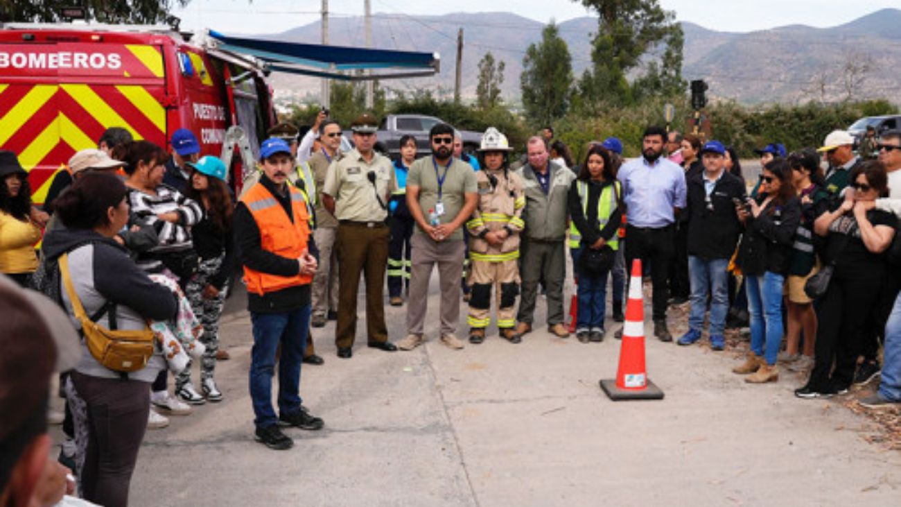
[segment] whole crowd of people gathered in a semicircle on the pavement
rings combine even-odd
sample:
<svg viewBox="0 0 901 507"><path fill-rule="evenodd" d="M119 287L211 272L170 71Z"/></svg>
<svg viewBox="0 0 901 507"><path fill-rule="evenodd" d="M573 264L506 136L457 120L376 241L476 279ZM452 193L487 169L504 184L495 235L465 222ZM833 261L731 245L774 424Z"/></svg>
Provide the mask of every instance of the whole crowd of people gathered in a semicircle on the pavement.
<svg viewBox="0 0 901 507"><path fill-rule="evenodd" d="M342 152L341 124L324 115L302 139L293 125L276 125L238 196L228 168L200 157L186 129L172 134L171 152L109 129L59 172L42 209L16 154L0 152L0 272L7 285L40 290L81 336L66 337L80 350L58 368L68 438L60 462L77 472L86 500L126 505L145 430L223 400L218 325L239 268L252 324L254 437L273 449L293 445L283 427L323 428L300 396L301 366L324 363L311 328L329 320L337 356L353 356L361 274L369 348L427 341L435 267L441 344L483 343L492 301L499 336L519 344L536 326L541 294L548 333L569 336L568 249L581 343L601 342L611 328L608 279L611 318L623 321L625 268L640 259L660 341L674 341L669 307L687 302L679 346L702 341L705 323L713 350L726 346L726 327L750 327L749 354L733 368L748 383L775 382L786 367L807 374L796 396L823 398L881 374L878 392L860 403L901 403L901 132L868 141L877 159L856 154L845 131L791 153L770 143L749 191L733 149L658 126L643 133L638 158L623 159L611 137L590 143L578 164L550 127L514 160L493 127L473 155L450 125L435 124L430 154L417 157L406 136L391 161L374 148L376 118L349 126L353 148ZM396 342L386 280L387 302L406 305L406 336ZM46 399L35 403L46 409ZM32 422L29 430L40 429ZM6 442L13 433L3 429Z"/></svg>

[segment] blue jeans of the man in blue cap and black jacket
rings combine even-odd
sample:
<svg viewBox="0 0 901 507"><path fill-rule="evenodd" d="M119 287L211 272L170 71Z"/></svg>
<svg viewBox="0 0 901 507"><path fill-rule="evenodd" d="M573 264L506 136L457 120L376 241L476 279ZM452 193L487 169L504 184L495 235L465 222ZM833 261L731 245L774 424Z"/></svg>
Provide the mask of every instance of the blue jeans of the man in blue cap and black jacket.
<svg viewBox="0 0 901 507"><path fill-rule="evenodd" d="M729 311L729 259L705 260L688 256L688 279L691 283L691 313L688 327L700 332L704 329L707 310L707 293L710 301L710 335L723 336L726 312ZM708 290L709 289L709 290Z"/></svg>

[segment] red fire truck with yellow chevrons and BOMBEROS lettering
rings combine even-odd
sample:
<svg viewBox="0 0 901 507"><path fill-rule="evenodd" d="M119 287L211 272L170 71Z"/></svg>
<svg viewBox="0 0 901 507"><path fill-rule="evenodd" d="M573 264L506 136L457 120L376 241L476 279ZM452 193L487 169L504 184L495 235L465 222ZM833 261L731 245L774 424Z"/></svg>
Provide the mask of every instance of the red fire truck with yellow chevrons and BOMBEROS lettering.
<svg viewBox="0 0 901 507"><path fill-rule="evenodd" d="M41 203L73 153L120 126L169 150L190 129L220 156L240 125L253 153L275 123L264 71L161 25L0 25L0 149L15 152ZM240 165L232 181L241 181Z"/></svg>

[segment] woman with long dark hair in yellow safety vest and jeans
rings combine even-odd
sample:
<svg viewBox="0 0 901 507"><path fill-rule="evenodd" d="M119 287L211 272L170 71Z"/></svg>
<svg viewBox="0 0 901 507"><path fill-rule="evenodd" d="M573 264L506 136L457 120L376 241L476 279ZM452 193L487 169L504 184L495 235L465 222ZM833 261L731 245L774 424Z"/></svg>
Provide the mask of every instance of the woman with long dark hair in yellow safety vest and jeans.
<svg viewBox="0 0 901 507"><path fill-rule="evenodd" d="M592 146L569 188L570 248L578 241L572 249L578 272L576 337L582 343L604 339L607 273L619 248L621 199L610 153Z"/></svg>

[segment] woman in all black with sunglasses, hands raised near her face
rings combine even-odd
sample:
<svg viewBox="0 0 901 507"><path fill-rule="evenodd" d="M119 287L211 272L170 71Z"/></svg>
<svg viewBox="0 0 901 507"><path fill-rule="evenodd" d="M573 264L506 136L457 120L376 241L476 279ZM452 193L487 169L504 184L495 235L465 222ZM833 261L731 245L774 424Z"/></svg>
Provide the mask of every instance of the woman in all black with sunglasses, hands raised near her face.
<svg viewBox="0 0 901 507"><path fill-rule="evenodd" d="M814 369L795 391L798 398L829 397L851 387L861 331L878 303L888 269L883 253L895 237L896 218L865 206L888 197L886 167L867 161L849 178L842 205L814 222L814 232L826 238L824 261L833 265L833 275L820 300Z"/></svg>

